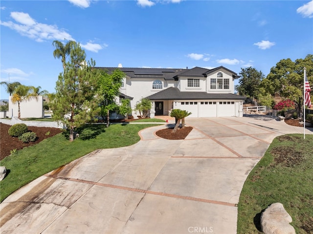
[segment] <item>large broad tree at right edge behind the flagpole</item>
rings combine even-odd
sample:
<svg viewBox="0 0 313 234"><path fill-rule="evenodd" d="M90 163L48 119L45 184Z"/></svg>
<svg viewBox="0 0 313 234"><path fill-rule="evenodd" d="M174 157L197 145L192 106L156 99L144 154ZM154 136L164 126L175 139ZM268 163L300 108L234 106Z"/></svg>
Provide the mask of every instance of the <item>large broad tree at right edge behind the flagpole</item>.
<svg viewBox="0 0 313 234"><path fill-rule="evenodd" d="M271 95L278 94L282 99L293 101L298 118L303 116L304 67L307 68L307 78L312 87L313 55L311 54L305 59L296 59L295 62L291 59L282 59L270 69L267 78L261 83L261 87Z"/></svg>

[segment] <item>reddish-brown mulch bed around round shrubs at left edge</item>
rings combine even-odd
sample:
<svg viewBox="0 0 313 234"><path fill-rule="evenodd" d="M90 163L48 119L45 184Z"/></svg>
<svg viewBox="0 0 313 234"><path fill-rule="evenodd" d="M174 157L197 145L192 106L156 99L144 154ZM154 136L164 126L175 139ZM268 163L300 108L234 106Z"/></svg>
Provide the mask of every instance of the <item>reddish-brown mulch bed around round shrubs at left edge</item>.
<svg viewBox="0 0 313 234"><path fill-rule="evenodd" d="M18 137L11 137L8 134L10 127L10 125L0 123L0 160L9 156L11 150L19 150L24 147L38 144L39 142L62 132L59 128L28 127L28 130L36 133L37 139L35 142L22 143Z"/></svg>

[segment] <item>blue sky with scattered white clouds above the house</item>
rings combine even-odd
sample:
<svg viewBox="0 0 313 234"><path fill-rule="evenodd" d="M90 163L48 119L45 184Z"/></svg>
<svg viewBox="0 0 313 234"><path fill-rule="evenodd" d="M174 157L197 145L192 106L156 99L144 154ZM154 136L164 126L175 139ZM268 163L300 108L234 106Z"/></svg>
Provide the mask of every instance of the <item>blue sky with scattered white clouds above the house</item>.
<svg viewBox="0 0 313 234"><path fill-rule="evenodd" d="M1 0L0 81L54 92L63 70L54 40L79 42L96 66L268 75L281 59L313 54L313 0Z"/></svg>

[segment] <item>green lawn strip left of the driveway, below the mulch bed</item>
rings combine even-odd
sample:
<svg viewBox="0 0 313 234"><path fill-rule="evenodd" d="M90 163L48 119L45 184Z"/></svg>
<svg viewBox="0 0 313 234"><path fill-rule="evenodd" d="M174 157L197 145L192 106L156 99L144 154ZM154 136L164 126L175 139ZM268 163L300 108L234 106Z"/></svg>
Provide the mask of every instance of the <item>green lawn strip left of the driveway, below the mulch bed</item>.
<svg viewBox="0 0 313 234"><path fill-rule="evenodd" d="M140 140L138 131L156 126L153 124L88 125L79 138L69 142L66 134L60 133L34 146L16 151L0 161L9 172L0 181L0 202L23 185L82 157L96 149L125 147Z"/></svg>

